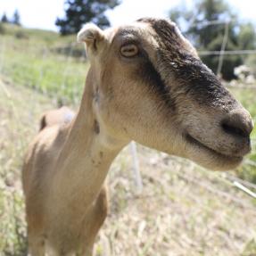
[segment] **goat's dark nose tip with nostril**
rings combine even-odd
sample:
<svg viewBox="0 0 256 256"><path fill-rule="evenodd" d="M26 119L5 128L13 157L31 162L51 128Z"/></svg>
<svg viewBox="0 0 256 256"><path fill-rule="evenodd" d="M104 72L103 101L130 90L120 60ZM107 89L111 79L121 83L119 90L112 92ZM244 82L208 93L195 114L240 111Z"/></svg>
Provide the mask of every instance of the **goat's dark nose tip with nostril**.
<svg viewBox="0 0 256 256"><path fill-rule="evenodd" d="M227 134L236 137L249 137L253 128L252 118L244 110L228 114L221 125Z"/></svg>

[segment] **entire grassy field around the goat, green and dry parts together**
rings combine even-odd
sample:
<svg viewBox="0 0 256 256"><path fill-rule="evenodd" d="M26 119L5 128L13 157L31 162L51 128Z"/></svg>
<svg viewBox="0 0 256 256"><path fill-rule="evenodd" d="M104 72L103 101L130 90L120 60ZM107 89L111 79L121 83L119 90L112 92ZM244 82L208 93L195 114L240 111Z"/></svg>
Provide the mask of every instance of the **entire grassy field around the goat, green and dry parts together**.
<svg viewBox="0 0 256 256"><path fill-rule="evenodd" d="M87 63L74 39L16 27L0 35L0 256L27 253L21 163L41 113L59 103L78 106ZM255 90L232 91L256 118ZM139 145L141 194L125 148L111 166L111 211L95 255L256 255L256 202L227 178L256 182L248 163L256 161L255 129L252 138L247 163L228 173Z"/></svg>

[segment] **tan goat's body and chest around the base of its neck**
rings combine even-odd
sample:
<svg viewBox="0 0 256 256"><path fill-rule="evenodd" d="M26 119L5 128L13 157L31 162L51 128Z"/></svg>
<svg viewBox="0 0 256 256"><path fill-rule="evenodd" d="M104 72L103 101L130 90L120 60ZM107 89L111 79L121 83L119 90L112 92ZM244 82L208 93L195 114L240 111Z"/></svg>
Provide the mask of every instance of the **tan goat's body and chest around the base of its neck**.
<svg viewBox="0 0 256 256"><path fill-rule="evenodd" d="M56 255L91 255L95 235L108 211L107 191L103 186L96 200L84 211L83 221L75 223L76 212L52 214L51 179L56 173L56 161L69 134L69 126L59 124L43 128L29 146L22 181L26 197L29 247L32 255L45 255L48 247ZM86 168L86 167L85 167ZM56 202L55 202L56 203Z"/></svg>

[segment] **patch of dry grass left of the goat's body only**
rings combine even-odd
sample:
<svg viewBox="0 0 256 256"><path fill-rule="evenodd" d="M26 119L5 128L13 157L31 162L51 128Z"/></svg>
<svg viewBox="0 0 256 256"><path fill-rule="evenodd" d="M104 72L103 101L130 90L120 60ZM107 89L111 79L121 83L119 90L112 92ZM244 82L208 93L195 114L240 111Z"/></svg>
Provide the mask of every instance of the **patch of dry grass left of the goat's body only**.
<svg viewBox="0 0 256 256"><path fill-rule="evenodd" d="M36 119L53 103L25 87L4 85L1 77L0 90L0 255L26 255L21 156L37 131Z"/></svg>

